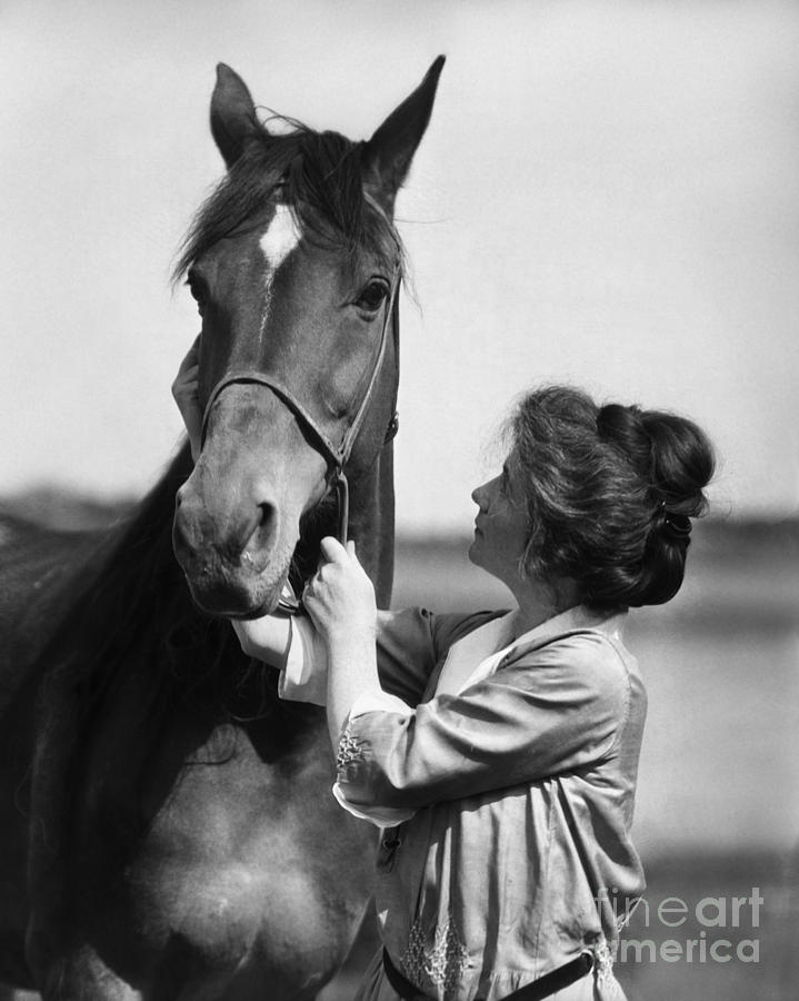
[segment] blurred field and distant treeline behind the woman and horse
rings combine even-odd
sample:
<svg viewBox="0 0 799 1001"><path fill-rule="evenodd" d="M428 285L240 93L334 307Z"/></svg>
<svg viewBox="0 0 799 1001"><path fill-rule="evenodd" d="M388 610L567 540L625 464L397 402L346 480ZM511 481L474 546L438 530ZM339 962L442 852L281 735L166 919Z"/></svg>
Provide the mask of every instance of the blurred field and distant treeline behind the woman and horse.
<svg viewBox="0 0 799 1001"><path fill-rule="evenodd" d="M126 506L37 490L0 509L76 529L108 524ZM469 565L467 547L467 538L400 538L396 606L502 606L503 588ZM625 938L652 943L640 955L630 948L617 965L630 1001L797 997L798 607L798 521L709 519L696 529L680 595L666 608L630 615L628 646L649 692L633 829L649 885L648 913L633 915ZM752 893L762 898L757 923L747 902L733 926L732 898L749 901ZM677 928L658 916L669 898L686 905ZM718 926L696 920L705 898L721 899L703 911ZM731 945L718 945L721 961L709 953L701 961L695 947L689 962L688 939L705 939L708 949L717 940ZM663 958L667 940L679 943L682 958ZM757 942L743 950L747 958L757 950L758 962L736 957L742 940ZM372 935L361 938L320 1001L350 1001L373 944Z"/></svg>

